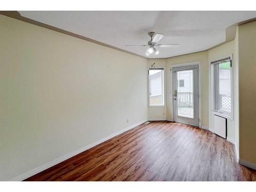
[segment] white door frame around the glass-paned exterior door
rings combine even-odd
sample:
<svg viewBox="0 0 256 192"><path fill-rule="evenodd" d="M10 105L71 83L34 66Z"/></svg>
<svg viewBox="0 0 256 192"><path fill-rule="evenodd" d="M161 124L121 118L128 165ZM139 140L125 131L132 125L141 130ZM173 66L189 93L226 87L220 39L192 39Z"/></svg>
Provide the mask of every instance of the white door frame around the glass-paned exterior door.
<svg viewBox="0 0 256 192"><path fill-rule="evenodd" d="M199 127L201 128L201 61L186 62L170 66L170 111L172 112L172 120L174 120L174 104L173 104L173 68L198 65L198 117Z"/></svg>

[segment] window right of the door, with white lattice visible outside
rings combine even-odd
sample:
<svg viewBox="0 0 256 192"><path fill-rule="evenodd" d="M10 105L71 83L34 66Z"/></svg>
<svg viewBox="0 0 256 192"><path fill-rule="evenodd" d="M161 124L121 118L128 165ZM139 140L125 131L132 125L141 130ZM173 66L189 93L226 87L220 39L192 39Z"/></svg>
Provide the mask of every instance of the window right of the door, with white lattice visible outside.
<svg viewBox="0 0 256 192"><path fill-rule="evenodd" d="M212 110L231 117L231 58L211 62Z"/></svg>

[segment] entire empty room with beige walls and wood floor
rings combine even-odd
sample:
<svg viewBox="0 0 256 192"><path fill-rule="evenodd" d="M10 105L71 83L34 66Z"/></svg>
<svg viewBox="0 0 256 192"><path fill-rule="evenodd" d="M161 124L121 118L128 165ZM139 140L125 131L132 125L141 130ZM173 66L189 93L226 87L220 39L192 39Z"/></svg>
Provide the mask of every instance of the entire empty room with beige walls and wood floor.
<svg viewBox="0 0 256 192"><path fill-rule="evenodd" d="M2 10L0 45L1 181L256 181L256 11Z"/></svg>

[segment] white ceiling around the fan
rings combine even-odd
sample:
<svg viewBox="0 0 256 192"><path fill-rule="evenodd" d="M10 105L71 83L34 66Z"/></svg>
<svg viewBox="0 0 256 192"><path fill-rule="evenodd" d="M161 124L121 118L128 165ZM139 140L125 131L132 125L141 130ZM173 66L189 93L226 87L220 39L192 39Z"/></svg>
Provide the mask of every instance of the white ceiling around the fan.
<svg viewBox="0 0 256 192"><path fill-rule="evenodd" d="M203 51L226 40L226 28L256 11L19 11L24 16L142 56L148 32L164 34L158 58ZM156 58L157 58L156 57Z"/></svg>

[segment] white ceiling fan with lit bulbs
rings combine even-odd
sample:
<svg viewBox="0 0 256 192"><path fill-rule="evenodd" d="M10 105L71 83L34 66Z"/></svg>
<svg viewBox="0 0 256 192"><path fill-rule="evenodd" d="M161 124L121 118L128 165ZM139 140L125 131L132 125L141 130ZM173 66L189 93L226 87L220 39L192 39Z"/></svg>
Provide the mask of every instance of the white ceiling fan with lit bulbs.
<svg viewBox="0 0 256 192"><path fill-rule="evenodd" d="M148 56L148 55L151 55L151 54L158 54L159 53L159 50L157 50L155 47L162 47L162 48L170 48L170 47L177 47L179 46L179 44L157 44L157 42L163 38L163 34L160 34L160 33L157 33L155 35L155 32L150 32L147 34L148 36L151 37L151 40L147 42L148 45L126 45L126 46L150 46L145 54ZM154 37L154 38L153 38Z"/></svg>

